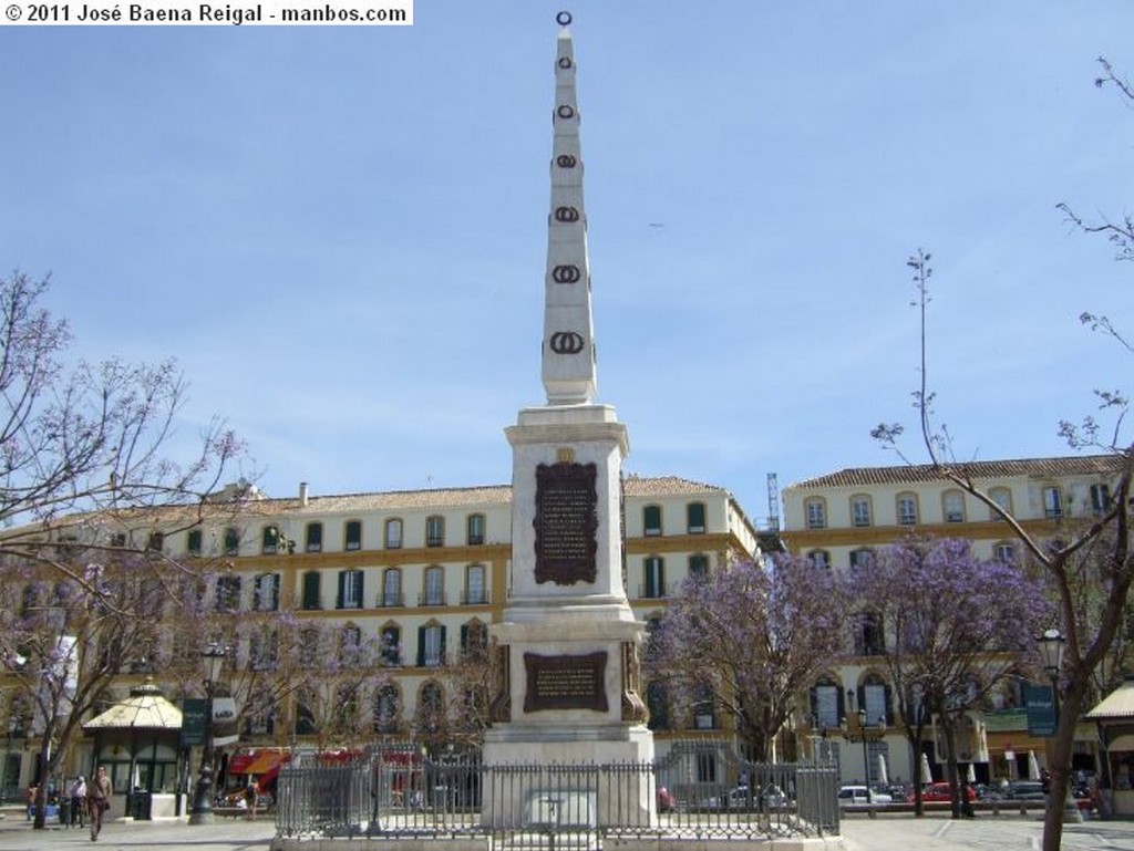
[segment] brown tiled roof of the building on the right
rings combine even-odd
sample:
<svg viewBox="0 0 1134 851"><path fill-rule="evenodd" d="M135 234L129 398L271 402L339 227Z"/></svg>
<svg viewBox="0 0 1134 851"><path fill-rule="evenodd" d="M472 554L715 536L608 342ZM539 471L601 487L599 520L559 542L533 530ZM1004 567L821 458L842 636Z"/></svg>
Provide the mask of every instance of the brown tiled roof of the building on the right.
<svg viewBox="0 0 1134 851"><path fill-rule="evenodd" d="M1008 461L965 461L950 465L972 478L1002 479L1046 476L1115 475L1123 465L1123 457L1068 456L1063 458L1021 458ZM897 467L850 467L838 473L805 479L793 488L861 487L866 485L899 485L915 482L942 482L945 476L933 465L900 465Z"/></svg>

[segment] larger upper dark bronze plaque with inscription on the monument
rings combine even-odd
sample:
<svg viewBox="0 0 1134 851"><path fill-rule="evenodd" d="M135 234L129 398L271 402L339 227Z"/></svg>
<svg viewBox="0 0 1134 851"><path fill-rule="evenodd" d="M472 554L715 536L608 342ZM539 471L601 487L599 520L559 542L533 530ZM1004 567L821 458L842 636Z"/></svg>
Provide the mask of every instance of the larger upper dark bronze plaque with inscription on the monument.
<svg viewBox="0 0 1134 851"><path fill-rule="evenodd" d="M598 573L599 495L593 463L535 468L535 581L593 582Z"/></svg>

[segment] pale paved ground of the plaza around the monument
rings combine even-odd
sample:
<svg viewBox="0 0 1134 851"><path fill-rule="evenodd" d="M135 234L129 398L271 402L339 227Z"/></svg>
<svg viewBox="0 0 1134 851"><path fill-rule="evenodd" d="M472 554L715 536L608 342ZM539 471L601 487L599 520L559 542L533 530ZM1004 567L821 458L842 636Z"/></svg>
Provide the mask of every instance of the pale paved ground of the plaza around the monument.
<svg viewBox="0 0 1134 851"><path fill-rule="evenodd" d="M850 815L843 822L847 851L1035 851L1043 825L1038 815L980 815L954 822L945 815ZM0 851L265 851L274 833L269 819L220 818L212 825L181 822L112 822L98 843L86 831L59 826L33 831L23 819L0 820ZM1134 851L1134 822L1086 822L1067 825L1065 851Z"/></svg>

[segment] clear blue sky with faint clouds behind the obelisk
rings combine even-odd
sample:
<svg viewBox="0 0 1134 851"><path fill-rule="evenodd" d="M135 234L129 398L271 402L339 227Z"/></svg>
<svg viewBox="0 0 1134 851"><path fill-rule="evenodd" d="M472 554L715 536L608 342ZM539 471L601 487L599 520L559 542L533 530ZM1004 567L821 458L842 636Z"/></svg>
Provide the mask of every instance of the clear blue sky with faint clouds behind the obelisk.
<svg viewBox="0 0 1134 851"><path fill-rule="evenodd" d="M626 469L897 462L906 258L963 457L1061 454L1131 361L1134 5L417 0L405 27L0 27L0 266L85 357L176 357L273 495L507 483L542 405L555 14L578 63L599 401ZM911 451L916 446L909 444Z"/></svg>

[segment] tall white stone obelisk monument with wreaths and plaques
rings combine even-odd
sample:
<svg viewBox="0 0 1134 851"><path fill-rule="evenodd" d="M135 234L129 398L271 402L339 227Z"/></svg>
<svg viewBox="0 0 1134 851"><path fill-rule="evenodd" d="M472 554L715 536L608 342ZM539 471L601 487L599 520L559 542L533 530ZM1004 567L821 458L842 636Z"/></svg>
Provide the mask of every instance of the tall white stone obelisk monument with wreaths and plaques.
<svg viewBox="0 0 1134 851"><path fill-rule="evenodd" d="M594 339L583 209L583 160L568 29L556 51L551 211L542 347L547 403L519 411L513 448L511 577L500 648L499 697L486 766L628 764L653 759L638 669L644 626L623 577L621 465L629 450L615 409L593 401ZM491 776L491 774L490 774ZM591 824L652 824L652 783L627 772L618 789L511 783L485 795L491 826L533 824L549 808ZM490 803L491 800L491 803ZM613 812L617 806L619 812ZM627 807L633 809L627 812Z"/></svg>

